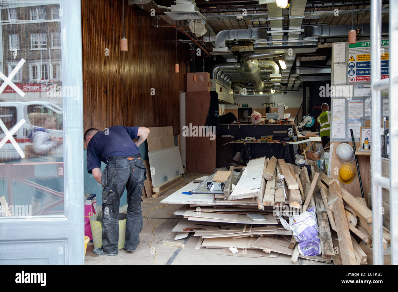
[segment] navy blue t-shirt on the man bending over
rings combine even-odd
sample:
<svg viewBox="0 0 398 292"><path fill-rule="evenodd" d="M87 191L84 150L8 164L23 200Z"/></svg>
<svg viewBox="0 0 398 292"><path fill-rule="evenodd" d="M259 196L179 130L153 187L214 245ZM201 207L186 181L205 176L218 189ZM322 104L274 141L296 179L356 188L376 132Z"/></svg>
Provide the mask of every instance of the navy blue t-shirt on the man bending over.
<svg viewBox="0 0 398 292"><path fill-rule="evenodd" d="M94 134L87 145L87 171L101 168L101 161L107 162L111 156L129 156L140 153L133 139L138 138L139 127L113 126Z"/></svg>

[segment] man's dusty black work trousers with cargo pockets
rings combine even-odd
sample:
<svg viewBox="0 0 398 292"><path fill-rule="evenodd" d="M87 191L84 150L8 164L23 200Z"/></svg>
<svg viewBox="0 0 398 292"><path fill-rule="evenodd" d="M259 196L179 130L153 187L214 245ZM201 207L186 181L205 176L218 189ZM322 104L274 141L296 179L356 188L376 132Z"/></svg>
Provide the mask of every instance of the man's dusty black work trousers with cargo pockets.
<svg viewBox="0 0 398 292"><path fill-rule="evenodd" d="M102 172L102 249L118 253L119 205L127 188L127 222L125 249L135 250L142 230L141 193L146 179L144 163L139 154L110 157Z"/></svg>

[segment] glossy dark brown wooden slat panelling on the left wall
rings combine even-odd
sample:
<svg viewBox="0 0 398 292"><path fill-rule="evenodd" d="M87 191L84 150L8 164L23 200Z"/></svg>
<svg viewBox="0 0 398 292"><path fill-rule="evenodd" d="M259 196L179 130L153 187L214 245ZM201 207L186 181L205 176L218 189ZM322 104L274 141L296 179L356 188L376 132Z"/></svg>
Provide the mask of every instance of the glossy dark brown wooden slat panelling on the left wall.
<svg viewBox="0 0 398 292"><path fill-rule="evenodd" d="M152 16L127 2L128 52L120 51L122 1L81 2L84 128L173 126L177 135L179 91L186 91L189 48L178 44L181 73L174 73L175 29L152 27Z"/></svg>

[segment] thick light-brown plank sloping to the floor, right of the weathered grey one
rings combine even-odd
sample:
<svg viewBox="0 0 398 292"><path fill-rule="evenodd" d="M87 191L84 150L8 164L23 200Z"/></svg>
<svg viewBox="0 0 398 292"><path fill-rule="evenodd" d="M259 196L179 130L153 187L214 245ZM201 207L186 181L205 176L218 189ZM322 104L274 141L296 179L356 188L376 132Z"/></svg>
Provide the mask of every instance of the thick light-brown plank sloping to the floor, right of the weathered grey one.
<svg viewBox="0 0 398 292"><path fill-rule="evenodd" d="M335 181L329 186L329 200L332 202L334 209L334 219L336 220L336 232L339 240L341 261L343 262L343 265L355 265L354 248L351 242L347 217L345 216L340 186Z"/></svg>

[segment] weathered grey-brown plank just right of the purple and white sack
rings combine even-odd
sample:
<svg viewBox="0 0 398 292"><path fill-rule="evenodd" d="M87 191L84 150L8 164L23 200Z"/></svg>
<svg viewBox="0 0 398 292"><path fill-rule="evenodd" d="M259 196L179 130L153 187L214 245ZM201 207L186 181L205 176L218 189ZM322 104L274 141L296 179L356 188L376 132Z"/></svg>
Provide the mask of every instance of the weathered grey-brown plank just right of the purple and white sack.
<svg viewBox="0 0 398 292"><path fill-rule="evenodd" d="M321 244L322 257L330 258L334 255L332 235L330 234L328 214L324 206L319 187L315 187L315 207L318 219L319 238Z"/></svg>

